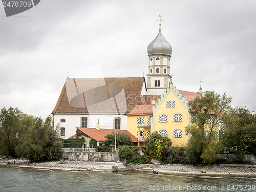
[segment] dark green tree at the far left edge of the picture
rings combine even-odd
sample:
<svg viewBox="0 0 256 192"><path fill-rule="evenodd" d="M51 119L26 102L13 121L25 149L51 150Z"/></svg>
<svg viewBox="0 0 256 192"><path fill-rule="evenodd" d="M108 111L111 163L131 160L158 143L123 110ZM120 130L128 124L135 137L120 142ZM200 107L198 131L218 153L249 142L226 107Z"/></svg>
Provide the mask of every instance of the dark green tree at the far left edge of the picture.
<svg viewBox="0 0 256 192"><path fill-rule="evenodd" d="M16 157L15 147L22 135L22 112L18 108L3 108L0 113L0 154ZM18 134L17 134L18 133Z"/></svg>

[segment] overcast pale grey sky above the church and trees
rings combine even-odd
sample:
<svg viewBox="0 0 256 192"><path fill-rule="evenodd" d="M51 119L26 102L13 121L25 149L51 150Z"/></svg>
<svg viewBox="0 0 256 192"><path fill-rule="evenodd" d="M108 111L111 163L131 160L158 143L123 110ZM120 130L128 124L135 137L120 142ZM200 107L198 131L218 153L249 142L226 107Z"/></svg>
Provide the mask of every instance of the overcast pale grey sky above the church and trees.
<svg viewBox="0 0 256 192"><path fill-rule="evenodd" d="M203 91L256 111L255 10L254 0L42 0L6 17L0 4L0 109L45 118L68 72L142 77L162 15L174 86L198 92L202 80Z"/></svg>

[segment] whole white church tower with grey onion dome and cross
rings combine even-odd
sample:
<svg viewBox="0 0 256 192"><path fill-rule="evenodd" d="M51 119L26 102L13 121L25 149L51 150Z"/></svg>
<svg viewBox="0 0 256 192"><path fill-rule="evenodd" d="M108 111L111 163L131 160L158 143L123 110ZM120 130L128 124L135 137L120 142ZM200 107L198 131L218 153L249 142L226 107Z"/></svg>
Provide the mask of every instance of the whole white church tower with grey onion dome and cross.
<svg viewBox="0 0 256 192"><path fill-rule="evenodd" d="M172 52L172 47L170 47L161 32L160 16L158 35L147 46L147 94L161 95L169 87L169 83L172 82L172 77L170 76L170 55L172 55Z"/></svg>

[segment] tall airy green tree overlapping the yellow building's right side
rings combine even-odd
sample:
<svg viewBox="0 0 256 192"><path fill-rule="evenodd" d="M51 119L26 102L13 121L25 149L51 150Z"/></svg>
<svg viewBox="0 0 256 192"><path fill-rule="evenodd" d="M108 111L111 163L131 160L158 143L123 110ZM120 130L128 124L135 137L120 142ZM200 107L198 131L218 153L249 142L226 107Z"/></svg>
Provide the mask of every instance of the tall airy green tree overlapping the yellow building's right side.
<svg viewBox="0 0 256 192"><path fill-rule="evenodd" d="M186 126L186 134L191 135L187 142L186 154L193 163L214 163L216 153L221 148L218 135L218 119L230 108L231 97L208 91L202 98L188 102L191 125Z"/></svg>

